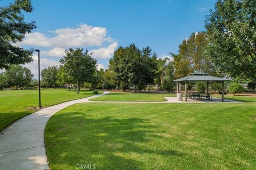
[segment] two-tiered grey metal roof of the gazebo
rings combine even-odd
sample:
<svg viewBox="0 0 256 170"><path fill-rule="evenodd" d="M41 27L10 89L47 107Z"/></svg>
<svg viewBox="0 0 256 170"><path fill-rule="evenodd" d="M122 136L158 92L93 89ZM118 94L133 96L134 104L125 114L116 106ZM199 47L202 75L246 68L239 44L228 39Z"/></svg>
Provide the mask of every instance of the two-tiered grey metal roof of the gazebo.
<svg viewBox="0 0 256 170"><path fill-rule="evenodd" d="M227 81L227 79L213 77L207 73L195 72L189 74L187 77L183 77L173 81Z"/></svg>

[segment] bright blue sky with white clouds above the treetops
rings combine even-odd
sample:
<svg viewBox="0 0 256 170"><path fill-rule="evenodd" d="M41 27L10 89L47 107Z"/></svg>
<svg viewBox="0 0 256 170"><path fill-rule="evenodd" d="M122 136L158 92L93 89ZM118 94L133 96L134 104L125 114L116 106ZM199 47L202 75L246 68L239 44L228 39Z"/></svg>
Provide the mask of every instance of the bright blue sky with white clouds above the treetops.
<svg viewBox="0 0 256 170"><path fill-rule="evenodd" d="M43 68L58 64L64 49L83 47L94 50L93 57L106 69L114 50L131 43L150 46L159 57L178 53L183 39L205 30L205 15L216 0L31 2L35 9L25 17L37 29L18 45L41 49ZM33 73L36 62L26 64Z"/></svg>

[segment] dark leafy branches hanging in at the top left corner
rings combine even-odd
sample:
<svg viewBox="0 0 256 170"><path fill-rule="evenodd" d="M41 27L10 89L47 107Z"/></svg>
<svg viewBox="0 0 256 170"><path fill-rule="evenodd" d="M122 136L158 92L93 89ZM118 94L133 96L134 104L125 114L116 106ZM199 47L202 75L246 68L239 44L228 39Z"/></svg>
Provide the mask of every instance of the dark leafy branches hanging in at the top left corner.
<svg viewBox="0 0 256 170"><path fill-rule="evenodd" d="M16 0L9 6L0 7L0 69L10 64L25 64L32 61L33 49L12 45L22 41L26 33L36 28L35 22L26 22L23 12L30 13L33 6L29 0Z"/></svg>

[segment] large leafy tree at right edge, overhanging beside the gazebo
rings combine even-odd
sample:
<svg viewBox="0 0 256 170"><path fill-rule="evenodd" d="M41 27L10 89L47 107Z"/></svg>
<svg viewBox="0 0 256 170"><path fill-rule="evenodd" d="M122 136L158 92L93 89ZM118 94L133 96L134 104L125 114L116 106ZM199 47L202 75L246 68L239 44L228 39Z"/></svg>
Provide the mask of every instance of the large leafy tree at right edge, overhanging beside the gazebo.
<svg viewBox="0 0 256 170"><path fill-rule="evenodd" d="M255 0L218 0L206 16L212 61L233 78L256 81L255 4Z"/></svg>

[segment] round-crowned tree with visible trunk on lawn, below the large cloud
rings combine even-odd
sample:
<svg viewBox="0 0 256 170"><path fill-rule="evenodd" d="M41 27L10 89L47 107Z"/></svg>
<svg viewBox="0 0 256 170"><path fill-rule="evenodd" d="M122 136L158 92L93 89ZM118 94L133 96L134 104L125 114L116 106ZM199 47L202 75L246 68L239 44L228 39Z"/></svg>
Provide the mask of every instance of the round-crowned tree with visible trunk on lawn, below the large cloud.
<svg viewBox="0 0 256 170"><path fill-rule="evenodd" d="M88 50L83 53L83 48L70 48L60 63L77 83L77 94L82 83L93 81L97 61L91 57Z"/></svg>

